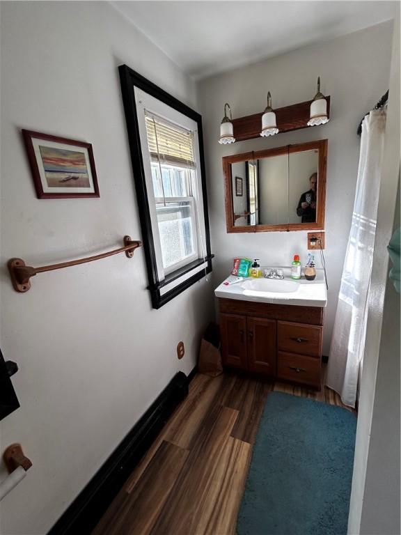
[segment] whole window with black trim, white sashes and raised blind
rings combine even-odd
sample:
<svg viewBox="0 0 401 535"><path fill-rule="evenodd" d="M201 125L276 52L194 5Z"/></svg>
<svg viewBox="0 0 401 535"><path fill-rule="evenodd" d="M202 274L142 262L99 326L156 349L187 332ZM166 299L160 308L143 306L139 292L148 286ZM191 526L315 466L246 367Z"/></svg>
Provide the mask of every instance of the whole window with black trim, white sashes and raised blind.
<svg viewBox="0 0 401 535"><path fill-rule="evenodd" d="M132 167L154 308L212 270L202 120L120 66Z"/></svg>

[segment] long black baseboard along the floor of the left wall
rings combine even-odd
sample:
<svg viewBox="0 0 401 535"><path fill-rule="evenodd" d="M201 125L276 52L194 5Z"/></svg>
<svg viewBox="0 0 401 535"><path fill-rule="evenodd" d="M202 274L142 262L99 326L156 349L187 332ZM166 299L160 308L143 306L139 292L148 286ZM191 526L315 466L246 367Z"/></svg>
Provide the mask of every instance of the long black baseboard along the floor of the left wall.
<svg viewBox="0 0 401 535"><path fill-rule="evenodd" d="M195 374L196 367L188 377L182 371L175 374L162 394L74 499L48 535L86 535L92 532L129 475L162 431L173 410L187 396L189 381Z"/></svg>

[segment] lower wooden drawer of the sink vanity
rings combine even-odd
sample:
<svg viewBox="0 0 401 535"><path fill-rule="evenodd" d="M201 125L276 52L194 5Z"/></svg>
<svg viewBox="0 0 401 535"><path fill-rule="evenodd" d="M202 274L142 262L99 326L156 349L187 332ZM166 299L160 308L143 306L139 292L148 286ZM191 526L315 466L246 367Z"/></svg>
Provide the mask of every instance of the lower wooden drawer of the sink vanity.
<svg viewBox="0 0 401 535"><path fill-rule="evenodd" d="M320 388L320 359L278 352L277 376Z"/></svg>

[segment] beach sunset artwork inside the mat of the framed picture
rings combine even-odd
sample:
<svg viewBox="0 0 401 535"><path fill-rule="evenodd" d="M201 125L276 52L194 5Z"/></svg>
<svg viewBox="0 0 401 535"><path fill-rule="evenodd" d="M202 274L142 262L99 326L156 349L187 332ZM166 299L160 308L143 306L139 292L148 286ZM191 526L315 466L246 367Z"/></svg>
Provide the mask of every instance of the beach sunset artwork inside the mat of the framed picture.
<svg viewBox="0 0 401 535"><path fill-rule="evenodd" d="M39 145L48 187L90 187L84 152Z"/></svg>

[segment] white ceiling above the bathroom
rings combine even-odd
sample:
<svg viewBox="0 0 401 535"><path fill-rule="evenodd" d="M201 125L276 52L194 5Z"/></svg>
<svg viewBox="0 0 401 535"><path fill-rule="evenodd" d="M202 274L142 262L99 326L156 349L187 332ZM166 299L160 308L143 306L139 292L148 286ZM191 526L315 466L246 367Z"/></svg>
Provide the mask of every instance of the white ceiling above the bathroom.
<svg viewBox="0 0 401 535"><path fill-rule="evenodd" d="M379 24L397 1L112 1L194 79Z"/></svg>

